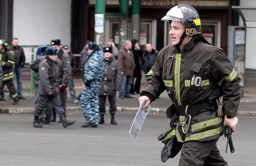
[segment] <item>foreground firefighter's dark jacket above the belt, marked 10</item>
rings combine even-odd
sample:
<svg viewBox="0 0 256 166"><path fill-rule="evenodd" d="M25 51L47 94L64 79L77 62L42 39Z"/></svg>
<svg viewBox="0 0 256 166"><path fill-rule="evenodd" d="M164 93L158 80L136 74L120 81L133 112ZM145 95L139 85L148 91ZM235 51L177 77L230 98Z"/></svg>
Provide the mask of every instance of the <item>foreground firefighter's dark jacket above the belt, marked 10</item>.
<svg viewBox="0 0 256 166"><path fill-rule="evenodd" d="M164 47L146 75L141 95L152 102L166 89L175 104L185 106L223 96L224 114L236 116L241 79L223 49L197 40L185 44L182 53L172 45Z"/></svg>

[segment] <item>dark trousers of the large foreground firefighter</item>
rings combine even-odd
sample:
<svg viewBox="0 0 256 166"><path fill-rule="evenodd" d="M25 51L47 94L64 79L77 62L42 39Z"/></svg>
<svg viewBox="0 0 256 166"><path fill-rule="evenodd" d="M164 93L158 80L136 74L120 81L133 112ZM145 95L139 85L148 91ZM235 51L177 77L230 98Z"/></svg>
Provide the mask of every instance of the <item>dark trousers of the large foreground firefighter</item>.
<svg viewBox="0 0 256 166"><path fill-rule="evenodd" d="M217 148L218 139L210 141L188 141L181 149L179 166L227 166Z"/></svg>

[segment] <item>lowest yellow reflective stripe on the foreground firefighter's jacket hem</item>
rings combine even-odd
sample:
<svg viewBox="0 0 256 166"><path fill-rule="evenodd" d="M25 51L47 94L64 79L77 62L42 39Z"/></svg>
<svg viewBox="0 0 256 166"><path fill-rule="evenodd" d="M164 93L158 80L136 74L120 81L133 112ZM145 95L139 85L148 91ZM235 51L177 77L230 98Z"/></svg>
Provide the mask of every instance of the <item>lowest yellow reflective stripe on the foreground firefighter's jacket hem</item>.
<svg viewBox="0 0 256 166"><path fill-rule="evenodd" d="M190 136L187 136L185 138L185 142L186 141L191 141L191 140L200 140L200 139L207 138L207 137L210 137L210 136L218 135L222 131L223 131L223 127L220 126L220 127L216 128L216 129L207 130L205 132L194 133L194 134L192 134Z"/></svg>

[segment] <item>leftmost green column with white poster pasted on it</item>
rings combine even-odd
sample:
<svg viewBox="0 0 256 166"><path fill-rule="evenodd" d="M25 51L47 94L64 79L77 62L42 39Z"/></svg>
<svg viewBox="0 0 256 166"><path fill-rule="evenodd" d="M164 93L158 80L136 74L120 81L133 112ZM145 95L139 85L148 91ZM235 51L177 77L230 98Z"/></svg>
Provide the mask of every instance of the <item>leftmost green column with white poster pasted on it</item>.
<svg viewBox="0 0 256 166"><path fill-rule="evenodd" d="M96 0L95 2L95 42L99 47L104 46L104 21L105 21L105 0Z"/></svg>

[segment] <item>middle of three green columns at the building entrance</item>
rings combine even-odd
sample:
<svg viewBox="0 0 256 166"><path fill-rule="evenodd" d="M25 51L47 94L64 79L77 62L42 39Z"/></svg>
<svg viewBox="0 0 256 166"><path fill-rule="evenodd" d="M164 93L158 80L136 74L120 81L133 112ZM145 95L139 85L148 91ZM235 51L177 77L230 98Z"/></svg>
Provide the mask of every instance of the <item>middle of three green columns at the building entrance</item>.
<svg viewBox="0 0 256 166"><path fill-rule="evenodd" d="M123 47L125 40L128 40L128 22L129 22L129 1L119 0L120 12L124 17L120 18L120 33L119 33L119 43L120 48Z"/></svg>

